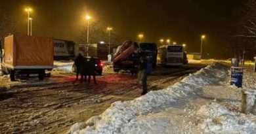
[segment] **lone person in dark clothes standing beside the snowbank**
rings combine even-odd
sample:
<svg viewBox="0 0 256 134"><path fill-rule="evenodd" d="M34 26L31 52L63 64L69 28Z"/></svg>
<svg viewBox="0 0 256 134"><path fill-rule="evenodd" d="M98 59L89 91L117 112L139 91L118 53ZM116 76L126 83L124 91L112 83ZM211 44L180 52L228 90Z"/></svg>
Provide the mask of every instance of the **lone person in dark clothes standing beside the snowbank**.
<svg viewBox="0 0 256 134"><path fill-rule="evenodd" d="M140 57L140 64L139 64L139 80L141 80L141 84L142 84L142 93L141 95L145 95L148 92L148 86L146 84L147 81L147 73L146 73L146 68L147 68L147 60L146 58L142 58Z"/></svg>

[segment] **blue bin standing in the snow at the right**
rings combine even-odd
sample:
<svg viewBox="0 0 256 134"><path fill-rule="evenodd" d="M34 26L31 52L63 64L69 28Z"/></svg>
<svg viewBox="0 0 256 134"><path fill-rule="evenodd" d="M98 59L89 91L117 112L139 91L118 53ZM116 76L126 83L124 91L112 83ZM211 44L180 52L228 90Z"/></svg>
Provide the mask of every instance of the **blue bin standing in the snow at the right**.
<svg viewBox="0 0 256 134"><path fill-rule="evenodd" d="M242 88L244 71L242 67L231 67L230 84Z"/></svg>

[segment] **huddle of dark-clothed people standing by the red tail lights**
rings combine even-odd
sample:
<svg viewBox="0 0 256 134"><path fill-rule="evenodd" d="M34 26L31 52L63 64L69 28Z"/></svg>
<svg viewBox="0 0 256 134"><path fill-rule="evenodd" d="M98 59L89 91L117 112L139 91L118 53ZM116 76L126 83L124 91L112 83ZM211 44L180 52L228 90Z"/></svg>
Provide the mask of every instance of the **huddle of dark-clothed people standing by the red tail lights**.
<svg viewBox="0 0 256 134"><path fill-rule="evenodd" d="M95 58L85 58L82 54L78 54L75 58L75 67L76 67L76 78L75 81L78 80L78 76L81 75L80 82L91 82L91 76L93 76L93 81L96 83L95 71L96 71L96 60ZM88 76L88 79L87 79Z"/></svg>

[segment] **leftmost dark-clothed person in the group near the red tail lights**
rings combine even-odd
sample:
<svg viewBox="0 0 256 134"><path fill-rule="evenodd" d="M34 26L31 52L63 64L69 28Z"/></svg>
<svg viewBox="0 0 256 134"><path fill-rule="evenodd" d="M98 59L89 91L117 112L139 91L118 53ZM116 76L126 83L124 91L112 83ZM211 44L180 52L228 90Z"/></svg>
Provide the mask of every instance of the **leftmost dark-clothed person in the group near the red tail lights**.
<svg viewBox="0 0 256 134"><path fill-rule="evenodd" d="M83 74L82 74L82 71L83 71L83 61L85 59L83 58L82 54L79 53L78 56L75 58L75 67L76 67L76 78L75 80L78 80L78 75L80 74L81 75L81 80L83 80Z"/></svg>

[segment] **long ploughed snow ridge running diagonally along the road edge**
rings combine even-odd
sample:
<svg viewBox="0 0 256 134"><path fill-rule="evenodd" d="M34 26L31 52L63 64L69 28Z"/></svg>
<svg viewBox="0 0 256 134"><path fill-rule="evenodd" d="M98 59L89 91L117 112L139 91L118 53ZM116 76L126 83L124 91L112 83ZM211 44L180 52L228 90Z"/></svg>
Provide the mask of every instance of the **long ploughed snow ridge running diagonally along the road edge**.
<svg viewBox="0 0 256 134"><path fill-rule="evenodd" d="M70 129L69 133L129 133L128 130L136 131L137 127L131 124L133 124L133 121L135 122L137 118L149 113L160 112L168 107L175 107L175 105L179 103L179 100L186 99L186 96L200 90L200 86L213 84L225 76L226 69L223 65L213 63L167 89L149 92L133 101L116 101L112 103L109 109L100 114L100 116L89 119L86 122L87 127L85 129L72 129L74 127L81 128L75 124L75 126ZM143 122L147 121L140 120L137 124L142 124ZM156 123L158 120L154 122ZM163 120L163 122L167 124L168 121ZM131 127L127 127L128 124L130 124L129 126ZM171 127L166 124L163 127ZM165 130L161 132L165 133ZM154 132L152 131L152 133Z"/></svg>

